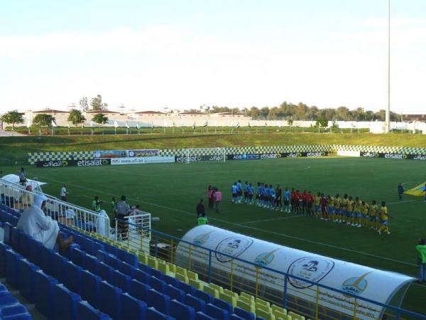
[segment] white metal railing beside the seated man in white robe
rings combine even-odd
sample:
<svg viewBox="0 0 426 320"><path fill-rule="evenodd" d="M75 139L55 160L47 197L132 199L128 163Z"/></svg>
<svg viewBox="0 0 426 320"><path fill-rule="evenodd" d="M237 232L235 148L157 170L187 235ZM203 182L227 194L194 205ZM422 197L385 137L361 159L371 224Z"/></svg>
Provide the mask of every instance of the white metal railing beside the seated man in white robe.
<svg viewBox="0 0 426 320"><path fill-rule="evenodd" d="M40 194L26 190L25 186L11 183L0 178L1 202L17 210L26 209L33 204L34 196ZM87 208L75 206L43 193L46 201L45 214L64 225L75 226L87 232L101 233L110 237L109 217L100 215Z"/></svg>

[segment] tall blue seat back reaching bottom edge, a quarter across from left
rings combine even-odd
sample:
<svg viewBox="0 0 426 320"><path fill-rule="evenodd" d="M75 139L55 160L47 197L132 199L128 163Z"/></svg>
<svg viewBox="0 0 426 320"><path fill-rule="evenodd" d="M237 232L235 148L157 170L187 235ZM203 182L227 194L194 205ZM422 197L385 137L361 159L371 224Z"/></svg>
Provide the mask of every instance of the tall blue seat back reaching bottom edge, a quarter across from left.
<svg viewBox="0 0 426 320"><path fill-rule="evenodd" d="M114 320L121 320L121 289L102 281L99 284L99 309Z"/></svg>

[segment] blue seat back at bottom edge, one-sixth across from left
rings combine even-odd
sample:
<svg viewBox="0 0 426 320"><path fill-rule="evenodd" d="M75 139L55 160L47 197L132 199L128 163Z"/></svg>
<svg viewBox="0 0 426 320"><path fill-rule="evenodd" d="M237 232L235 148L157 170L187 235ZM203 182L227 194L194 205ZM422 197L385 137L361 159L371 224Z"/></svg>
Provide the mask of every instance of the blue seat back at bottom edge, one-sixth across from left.
<svg viewBox="0 0 426 320"><path fill-rule="evenodd" d="M68 290L63 284L55 284L53 294L55 295L55 301L53 302L54 319L78 319L77 303L82 301L82 298L78 294Z"/></svg>

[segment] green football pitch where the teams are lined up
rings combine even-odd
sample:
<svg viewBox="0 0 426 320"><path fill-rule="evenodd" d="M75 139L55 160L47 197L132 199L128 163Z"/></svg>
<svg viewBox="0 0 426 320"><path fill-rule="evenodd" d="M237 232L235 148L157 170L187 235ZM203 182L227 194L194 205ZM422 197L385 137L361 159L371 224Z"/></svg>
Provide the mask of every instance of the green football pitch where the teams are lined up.
<svg viewBox="0 0 426 320"><path fill-rule="evenodd" d="M0 169L15 171L11 166ZM58 169L27 166L26 170L29 178L36 176L47 182L43 191L53 196L59 196L62 183L66 183L68 201L87 208L97 195L111 211L111 197L124 194L131 205L139 204L141 210L160 217L153 228L178 237L195 225L195 206L200 198L207 200L207 186L212 185L223 193L221 212L207 209L212 225L320 255L415 275L415 243L426 238L426 203L405 195L398 200L397 195L400 182L411 188L426 181L422 161L329 157ZM257 206L234 205L231 184L238 179L272 183L274 188L279 183L313 193L348 193L368 203L386 201L393 216L391 235ZM426 314L425 301L426 286L412 284L403 307Z"/></svg>

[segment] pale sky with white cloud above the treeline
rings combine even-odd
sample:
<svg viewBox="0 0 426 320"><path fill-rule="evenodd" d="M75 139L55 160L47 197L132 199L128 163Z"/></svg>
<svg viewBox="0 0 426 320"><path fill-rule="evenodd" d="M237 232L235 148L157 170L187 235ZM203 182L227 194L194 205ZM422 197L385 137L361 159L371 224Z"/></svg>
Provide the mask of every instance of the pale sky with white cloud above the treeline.
<svg viewBox="0 0 426 320"><path fill-rule="evenodd" d="M391 110L425 113L426 1L391 0ZM386 0L0 1L0 113L386 107Z"/></svg>

